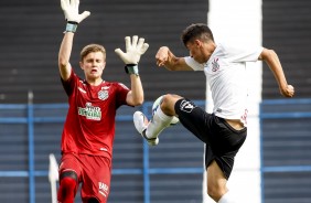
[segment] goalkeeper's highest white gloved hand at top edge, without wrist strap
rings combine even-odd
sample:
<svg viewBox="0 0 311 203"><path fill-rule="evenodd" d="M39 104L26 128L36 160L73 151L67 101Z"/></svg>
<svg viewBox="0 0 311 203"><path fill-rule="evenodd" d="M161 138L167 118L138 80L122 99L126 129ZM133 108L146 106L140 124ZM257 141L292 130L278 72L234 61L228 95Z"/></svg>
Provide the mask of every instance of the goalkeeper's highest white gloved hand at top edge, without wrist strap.
<svg viewBox="0 0 311 203"><path fill-rule="evenodd" d="M61 0L62 10L64 11L65 19L68 22L79 23L90 14L89 11L84 11L82 14L79 14L78 4L79 0Z"/></svg>

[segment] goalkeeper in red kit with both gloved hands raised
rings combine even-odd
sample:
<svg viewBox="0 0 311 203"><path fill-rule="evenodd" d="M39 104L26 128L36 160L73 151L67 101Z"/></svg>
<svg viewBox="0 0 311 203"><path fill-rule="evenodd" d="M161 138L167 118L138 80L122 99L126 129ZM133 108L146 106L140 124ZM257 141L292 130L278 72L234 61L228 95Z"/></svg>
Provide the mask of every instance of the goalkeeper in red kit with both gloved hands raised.
<svg viewBox="0 0 311 203"><path fill-rule="evenodd" d="M69 63L73 40L81 21L88 11L78 13L78 0L61 0L66 29L58 53L63 87L68 96L68 113L62 133L60 164L60 203L73 203L78 185L84 203L106 203L110 191L111 157L116 111L121 105L143 103L143 89L138 72L140 56L148 50L144 39L126 36L126 53L116 53L126 64L131 87L104 81L106 51L99 44L86 45L81 52L79 78Z"/></svg>

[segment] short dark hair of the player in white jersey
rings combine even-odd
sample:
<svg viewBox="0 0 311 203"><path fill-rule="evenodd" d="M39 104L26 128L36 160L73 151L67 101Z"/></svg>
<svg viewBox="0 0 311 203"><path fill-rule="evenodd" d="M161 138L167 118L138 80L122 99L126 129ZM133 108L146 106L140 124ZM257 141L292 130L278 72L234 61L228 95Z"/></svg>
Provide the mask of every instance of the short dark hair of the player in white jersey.
<svg viewBox="0 0 311 203"><path fill-rule="evenodd" d="M184 45L189 42L200 39L202 41L213 41L214 36L211 29L204 23L194 23L185 28L181 34L181 40Z"/></svg>

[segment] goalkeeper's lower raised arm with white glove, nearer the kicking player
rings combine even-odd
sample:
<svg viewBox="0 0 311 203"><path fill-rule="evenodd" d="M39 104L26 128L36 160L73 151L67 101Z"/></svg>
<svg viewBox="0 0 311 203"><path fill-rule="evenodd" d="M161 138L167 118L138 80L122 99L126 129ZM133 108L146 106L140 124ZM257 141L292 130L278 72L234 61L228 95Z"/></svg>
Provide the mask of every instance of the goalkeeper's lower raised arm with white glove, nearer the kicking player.
<svg viewBox="0 0 311 203"><path fill-rule="evenodd" d="M144 39L138 39L137 35L126 36L126 53L120 49L116 49L116 54L125 62L126 73L130 75L131 90L127 95L127 104L138 106L143 103L143 89L139 77L138 63L140 56L148 50L149 44L144 43Z"/></svg>

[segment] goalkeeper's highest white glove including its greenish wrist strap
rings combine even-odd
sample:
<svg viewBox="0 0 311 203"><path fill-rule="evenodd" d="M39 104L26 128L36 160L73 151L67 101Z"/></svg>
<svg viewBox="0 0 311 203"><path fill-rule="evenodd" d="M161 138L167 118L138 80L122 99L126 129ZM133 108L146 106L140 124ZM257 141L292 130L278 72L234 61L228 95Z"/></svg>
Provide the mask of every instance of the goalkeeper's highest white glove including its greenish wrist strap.
<svg viewBox="0 0 311 203"><path fill-rule="evenodd" d="M65 32L76 32L77 24L86 19L90 12L78 13L79 0L61 0L61 7L67 21Z"/></svg>

